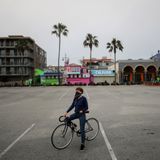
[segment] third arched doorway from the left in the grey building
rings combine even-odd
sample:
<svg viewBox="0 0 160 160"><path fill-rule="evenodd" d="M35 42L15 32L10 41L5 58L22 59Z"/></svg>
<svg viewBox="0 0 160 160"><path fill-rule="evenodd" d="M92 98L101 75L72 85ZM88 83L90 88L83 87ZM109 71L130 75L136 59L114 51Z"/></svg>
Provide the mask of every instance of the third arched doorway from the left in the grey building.
<svg viewBox="0 0 160 160"><path fill-rule="evenodd" d="M147 68L146 80L147 81L153 81L155 79L156 79L156 67L155 66L149 66Z"/></svg>

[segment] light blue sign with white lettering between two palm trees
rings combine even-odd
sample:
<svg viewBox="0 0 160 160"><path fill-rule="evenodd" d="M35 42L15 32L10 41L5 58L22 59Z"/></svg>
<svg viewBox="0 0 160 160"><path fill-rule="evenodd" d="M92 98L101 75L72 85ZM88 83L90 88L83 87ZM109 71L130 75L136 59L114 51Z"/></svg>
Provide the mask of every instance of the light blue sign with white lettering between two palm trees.
<svg viewBox="0 0 160 160"><path fill-rule="evenodd" d="M93 76L115 76L114 70L91 70Z"/></svg>

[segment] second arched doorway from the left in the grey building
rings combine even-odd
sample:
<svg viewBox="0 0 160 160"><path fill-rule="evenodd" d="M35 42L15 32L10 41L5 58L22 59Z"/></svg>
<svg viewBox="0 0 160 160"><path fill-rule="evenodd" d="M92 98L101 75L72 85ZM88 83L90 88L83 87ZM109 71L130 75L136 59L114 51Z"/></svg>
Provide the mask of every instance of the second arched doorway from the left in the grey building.
<svg viewBox="0 0 160 160"><path fill-rule="evenodd" d="M140 84L144 81L144 67L137 66L135 69L135 82Z"/></svg>

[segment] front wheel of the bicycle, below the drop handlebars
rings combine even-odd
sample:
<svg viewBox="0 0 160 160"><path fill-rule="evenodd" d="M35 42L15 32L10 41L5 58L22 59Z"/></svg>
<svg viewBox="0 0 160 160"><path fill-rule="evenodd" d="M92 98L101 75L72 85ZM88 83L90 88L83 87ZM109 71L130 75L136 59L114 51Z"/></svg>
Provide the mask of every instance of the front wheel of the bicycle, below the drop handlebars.
<svg viewBox="0 0 160 160"><path fill-rule="evenodd" d="M66 148L72 141L73 131L66 124L58 125L51 136L51 142L56 149Z"/></svg>

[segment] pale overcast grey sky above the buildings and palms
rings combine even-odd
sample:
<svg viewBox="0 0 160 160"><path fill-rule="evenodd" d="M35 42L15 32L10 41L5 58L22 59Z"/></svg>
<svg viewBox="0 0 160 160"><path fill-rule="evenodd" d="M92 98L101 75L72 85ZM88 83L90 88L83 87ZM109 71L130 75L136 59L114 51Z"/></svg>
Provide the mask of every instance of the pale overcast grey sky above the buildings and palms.
<svg viewBox="0 0 160 160"><path fill-rule="evenodd" d="M99 40L95 58L113 58L106 50L112 38L124 46L118 59L147 59L160 49L160 0L0 0L0 36L32 37L47 52L48 65L57 65L58 39L51 31L58 22L69 30L61 57L66 53L70 63L89 58L87 33Z"/></svg>

